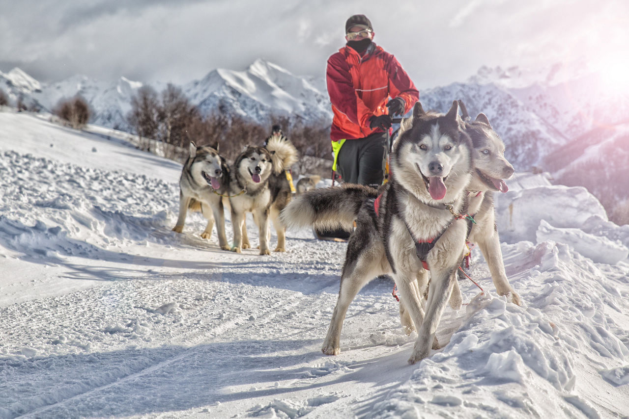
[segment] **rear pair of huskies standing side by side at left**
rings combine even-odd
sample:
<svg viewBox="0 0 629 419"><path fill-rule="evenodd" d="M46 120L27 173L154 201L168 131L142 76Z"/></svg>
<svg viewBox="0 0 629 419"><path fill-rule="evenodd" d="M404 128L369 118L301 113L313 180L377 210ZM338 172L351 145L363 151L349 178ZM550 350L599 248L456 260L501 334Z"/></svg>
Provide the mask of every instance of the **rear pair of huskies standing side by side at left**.
<svg viewBox="0 0 629 419"><path fill-rule="evenodd" d="M173 231L182 232L188 209L201 210L208 220L201 237L211 237L216 221L220 248L240 253L250 248L245 214L251 212L259 227L260 254L270 254L269 219L277 232L275 251L285 251L286 227L279 214L291 200L286 171L297 161L298 151L277 126L264 144L247 147L230 167L218 153L218 146L191 143L179 179L179 217ZM225 235L226 206L231 209L232 246Z"/></svg>

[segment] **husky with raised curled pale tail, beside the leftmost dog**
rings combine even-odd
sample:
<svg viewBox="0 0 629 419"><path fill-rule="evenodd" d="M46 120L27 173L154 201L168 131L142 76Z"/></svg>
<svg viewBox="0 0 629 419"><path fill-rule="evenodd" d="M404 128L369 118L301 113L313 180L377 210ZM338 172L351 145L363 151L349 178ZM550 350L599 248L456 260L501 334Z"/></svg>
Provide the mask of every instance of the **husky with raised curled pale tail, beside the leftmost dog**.
<svg viewBox="0 0 629 419"><path fill-rule="evenodd" d="M291 199L291 187L285 171L298 158L296 148L281 134L270 136L263 147L248 147L233 165L230 204L231 223L234 228L232 251L241 252L240 231L246 212L252 212L259 227L260 254L270 254L269 217L277 232L275 251L286 248L286 228L279 214Z"/></svg>

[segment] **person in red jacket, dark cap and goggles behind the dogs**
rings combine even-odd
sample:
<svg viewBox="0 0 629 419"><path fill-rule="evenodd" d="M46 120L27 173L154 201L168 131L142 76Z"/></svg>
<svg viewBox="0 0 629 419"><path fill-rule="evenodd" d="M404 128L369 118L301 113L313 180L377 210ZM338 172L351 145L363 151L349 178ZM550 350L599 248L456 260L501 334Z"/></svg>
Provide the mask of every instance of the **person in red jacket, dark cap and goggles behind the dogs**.
<svg viewBox="0 0 629 419"><path fill-rule="evenodd" d="M398 60L373 42L374 35L367 16L350 16L347 44L328 58L326 82L334 115L333 169L343 182L378 187L391 116L406 114L420 93Z"/></svg>

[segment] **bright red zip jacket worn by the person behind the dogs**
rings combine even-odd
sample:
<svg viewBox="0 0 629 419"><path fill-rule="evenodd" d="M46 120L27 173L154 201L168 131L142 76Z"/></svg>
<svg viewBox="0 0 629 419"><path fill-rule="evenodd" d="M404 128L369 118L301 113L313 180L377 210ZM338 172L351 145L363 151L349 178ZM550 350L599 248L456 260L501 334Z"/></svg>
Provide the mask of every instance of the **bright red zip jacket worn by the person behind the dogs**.
<svg viewBox="0 0 629 419"><path fill-rule="evenodd" d="M382 131L369 128L369 118L388 113L386 104L390 99L404 99L404 113L420 100L420 92L398 60L374 43L364 57L349 46L331 55L326 81L334 113L332 141L364 138Z"/></svg>

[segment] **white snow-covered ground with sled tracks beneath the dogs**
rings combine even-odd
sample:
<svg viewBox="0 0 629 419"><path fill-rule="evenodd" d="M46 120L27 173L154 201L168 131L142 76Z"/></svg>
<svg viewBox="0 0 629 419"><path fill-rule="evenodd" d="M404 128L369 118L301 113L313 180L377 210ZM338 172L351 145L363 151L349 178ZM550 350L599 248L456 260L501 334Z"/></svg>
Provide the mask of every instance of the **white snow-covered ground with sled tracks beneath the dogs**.
<svg viewBox="0 0 629 419"><path fill-rule="evenodd" d="M461 281L449 343L409 366L391 280L323 356L347 245L290 231L287 253L230 253L200 214L176 234L180 171L114 133L0 112L0 418L629 414L629 226L583 188L509 182L498 228L523 306L473 249L485 292Z"/></svg>

